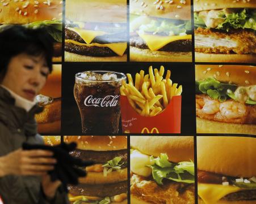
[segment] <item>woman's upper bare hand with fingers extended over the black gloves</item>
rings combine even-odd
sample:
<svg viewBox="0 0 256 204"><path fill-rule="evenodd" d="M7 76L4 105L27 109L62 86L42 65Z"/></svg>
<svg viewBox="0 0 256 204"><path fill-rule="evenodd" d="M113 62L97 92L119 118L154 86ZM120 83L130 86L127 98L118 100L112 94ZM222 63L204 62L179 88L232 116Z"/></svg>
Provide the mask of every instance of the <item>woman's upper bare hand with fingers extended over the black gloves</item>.
<svg viewBox="0 0 256 204"><path fill-rule="evenodd" d="M53 170L52 151L18 149L0 157L0 177L6 175L42 176Z"/></svg>

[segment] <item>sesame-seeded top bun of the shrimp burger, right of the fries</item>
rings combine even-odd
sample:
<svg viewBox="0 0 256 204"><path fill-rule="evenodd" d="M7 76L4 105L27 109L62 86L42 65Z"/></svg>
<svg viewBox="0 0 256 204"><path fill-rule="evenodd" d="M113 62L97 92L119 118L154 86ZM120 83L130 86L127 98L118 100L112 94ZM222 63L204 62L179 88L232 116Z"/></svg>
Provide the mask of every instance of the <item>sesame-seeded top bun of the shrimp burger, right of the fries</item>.
<svg viewBox="0 0 256 204"><path fill-rule="evenodd" d="M256 84L256 68L242 65L196 65L195 79L197 81L214 77L222 83L231 83L238 86Z"/></svg>

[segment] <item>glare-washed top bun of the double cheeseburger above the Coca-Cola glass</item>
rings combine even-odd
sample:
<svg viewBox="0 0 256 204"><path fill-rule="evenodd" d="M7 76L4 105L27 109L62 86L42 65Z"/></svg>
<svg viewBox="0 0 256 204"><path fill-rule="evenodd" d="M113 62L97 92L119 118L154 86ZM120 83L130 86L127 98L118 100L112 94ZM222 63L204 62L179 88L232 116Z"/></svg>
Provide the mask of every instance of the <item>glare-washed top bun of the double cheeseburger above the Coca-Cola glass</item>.
<svg viewBox="0 0 256 204"><path fill-rule="evenodd" d="M83 22L126 23L126 0L66 0L66 19Z"/></svg>

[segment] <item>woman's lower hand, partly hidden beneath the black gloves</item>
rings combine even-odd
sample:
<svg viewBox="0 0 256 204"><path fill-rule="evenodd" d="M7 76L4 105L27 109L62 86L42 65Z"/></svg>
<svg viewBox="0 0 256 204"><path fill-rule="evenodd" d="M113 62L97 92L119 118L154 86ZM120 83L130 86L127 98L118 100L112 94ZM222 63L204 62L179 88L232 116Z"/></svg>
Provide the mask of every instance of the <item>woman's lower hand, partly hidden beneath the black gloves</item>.
<svg viewBox="0 0 256 204"><path fill-rule="evenodd" d="M54 198L58 186L60 186L61 181L51 181L49 175L42 176L42 188L47 199L51 200Z"/></svg>

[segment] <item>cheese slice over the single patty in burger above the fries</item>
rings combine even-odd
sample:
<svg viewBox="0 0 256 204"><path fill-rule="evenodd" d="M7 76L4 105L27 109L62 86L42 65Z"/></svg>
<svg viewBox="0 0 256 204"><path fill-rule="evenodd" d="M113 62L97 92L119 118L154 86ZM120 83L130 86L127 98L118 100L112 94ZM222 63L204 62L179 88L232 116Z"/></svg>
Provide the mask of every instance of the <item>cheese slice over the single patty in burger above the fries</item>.
<svg viewBox="0 0 256 204"><path fill-rule="evenodd" d="M153 34L142 34L140 32L137 33L146 42L146 45L148 45L149 49L152 51L157 51L173 41L192 39L191 34L187 34L186 36L156 36Z"/></svg>

